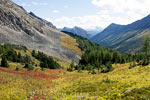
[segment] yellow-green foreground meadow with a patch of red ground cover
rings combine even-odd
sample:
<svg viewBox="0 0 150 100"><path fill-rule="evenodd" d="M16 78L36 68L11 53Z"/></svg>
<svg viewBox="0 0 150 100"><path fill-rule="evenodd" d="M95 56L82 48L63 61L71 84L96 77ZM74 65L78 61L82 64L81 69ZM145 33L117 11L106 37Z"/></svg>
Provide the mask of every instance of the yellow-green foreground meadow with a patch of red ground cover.
<svg viewBox="0 0 150 100"><path fill-rule="evenodd" d="M106 74L0 68L0 100L134 100L150 98L150 66L114 65ZM32 98L32 99L31 99Z"/></svg>

